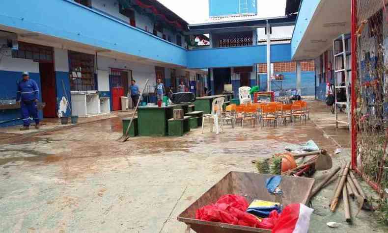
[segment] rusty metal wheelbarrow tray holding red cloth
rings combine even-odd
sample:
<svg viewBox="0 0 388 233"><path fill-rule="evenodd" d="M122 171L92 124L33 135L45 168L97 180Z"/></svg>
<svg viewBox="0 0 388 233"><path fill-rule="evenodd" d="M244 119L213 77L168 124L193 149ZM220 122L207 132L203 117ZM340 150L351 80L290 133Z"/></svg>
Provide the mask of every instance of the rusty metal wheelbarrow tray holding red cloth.
<svg viewBox="0 0 388 233"><path fill-rule="evenodd" d="M229 172L221 181L205 192L190 207L178 216L178 221L187 224L186 233L270 233L270 230L230 225L219 222L208 222L195 219L195 211L206 205L213 204L226 194L243 196L251 203L255 199L276 202L275 195L268 193L265 181L270 174ZM304 177L282 176L279 188L282 189L282 204L306 204L314 179Z"/></svg>

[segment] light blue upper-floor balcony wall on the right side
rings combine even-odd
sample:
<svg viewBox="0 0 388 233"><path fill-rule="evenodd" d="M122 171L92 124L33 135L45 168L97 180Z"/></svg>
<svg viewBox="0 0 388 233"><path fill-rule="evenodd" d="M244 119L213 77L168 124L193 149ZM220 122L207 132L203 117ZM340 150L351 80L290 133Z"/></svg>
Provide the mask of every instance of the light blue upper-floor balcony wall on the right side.
<svg viewBox="0 0 388 233"><path fill-rule="evenodd" d="M294 57L298 50L299 44L305 35L306 29L310 24L311 18L321 0L302 0L297 21L292 33L291 39L291 56Z"/></svg>

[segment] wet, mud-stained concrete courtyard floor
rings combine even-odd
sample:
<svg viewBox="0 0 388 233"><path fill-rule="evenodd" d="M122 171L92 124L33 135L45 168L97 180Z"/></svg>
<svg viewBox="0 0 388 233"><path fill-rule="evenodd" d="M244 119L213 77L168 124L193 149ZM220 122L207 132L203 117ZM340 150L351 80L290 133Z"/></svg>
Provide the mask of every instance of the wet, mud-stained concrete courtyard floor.
<svg viewBox="0 0 388 233"><path fill-rule="evenodd" d="M205 128L204 134L194 129L183 137L123 143L116 117L1 140L0 231L182 233L185 225L176 217L229 171L256 172L251 160L310 139L330 152L336 144L348 147L339 139L349 131L325 133L330 126L321 118L333 116L322 103L310 105L323 112L311 114L316 124L276 129L225 126L219 135ZM348 159L347 153L335 155L335 164ZM328 229L326 222L343 219L341 207L334 214L326 207L331 188L313 199L318 214L311 232L383 231L367 212L354 225Z"/></svg>

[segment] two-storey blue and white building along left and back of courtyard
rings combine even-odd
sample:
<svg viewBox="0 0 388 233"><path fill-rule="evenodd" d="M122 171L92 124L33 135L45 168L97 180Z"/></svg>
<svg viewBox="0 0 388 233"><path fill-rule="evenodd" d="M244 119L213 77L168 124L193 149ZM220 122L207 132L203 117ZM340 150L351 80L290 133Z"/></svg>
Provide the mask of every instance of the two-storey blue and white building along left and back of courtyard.
<svg viewBox="0 0 388 233"><path fill-rule="evenodd" d="M230 2L234 5L220 8L211 0L212 16L227 15L188 25L157 0L3 1L1 103L16 97L16 81L25 71L40 85L40 101L46 103L42 118L69 116L74 109L85 116L118 110L132 79L141 89L148 78L149 93L157 78L173 89L183 80L197 95L204 94L204 87L217 94L223 84L233 89L256 85L257 64L268 60L268 46L257 44L257 27L294 25L296 17L258 19L255 0L236 16L231 9L241 10L243 3L245 9L245 1ZM241 21L239 14L248 18ZM10 46L15 38L18 46ZM209 43L198 46L198 38ZM291 60L290 43L270 47L271 62ZM17 118L19 109L0 107L0 126L21 124Z"/></svg>

